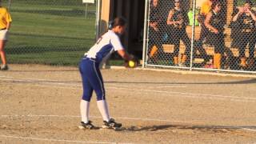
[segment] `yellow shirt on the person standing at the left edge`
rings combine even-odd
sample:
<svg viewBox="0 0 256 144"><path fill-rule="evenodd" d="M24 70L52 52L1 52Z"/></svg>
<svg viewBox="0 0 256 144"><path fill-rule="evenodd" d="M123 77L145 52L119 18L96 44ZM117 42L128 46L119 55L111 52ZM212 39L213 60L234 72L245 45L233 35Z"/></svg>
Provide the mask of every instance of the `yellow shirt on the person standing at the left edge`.
<svg viewBox="0 0 256 144"><path fill-rule="evenodd" d="M12 20L10 18L9 12L5 7L0 7L0 29L5 29L7 23L10 23Z"/></svg>

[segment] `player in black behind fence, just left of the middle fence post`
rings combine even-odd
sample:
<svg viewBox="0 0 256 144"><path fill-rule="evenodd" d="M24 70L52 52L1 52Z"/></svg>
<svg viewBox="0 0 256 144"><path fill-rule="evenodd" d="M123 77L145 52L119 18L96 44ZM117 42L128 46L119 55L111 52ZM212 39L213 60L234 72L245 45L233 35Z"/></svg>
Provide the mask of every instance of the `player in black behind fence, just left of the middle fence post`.
<svg viewBox="0 0 256 144"><path fill-rule="evenodd" d="M175 0L174 9L171 9L167 18L167 25L173 27L174 34L174 66L186 66L186 60L190 56L190 38L186 34L185 12L180 7L179 0ZM182 62L178 62L180 40L185 44L185 54L182 55Z"/></svg>

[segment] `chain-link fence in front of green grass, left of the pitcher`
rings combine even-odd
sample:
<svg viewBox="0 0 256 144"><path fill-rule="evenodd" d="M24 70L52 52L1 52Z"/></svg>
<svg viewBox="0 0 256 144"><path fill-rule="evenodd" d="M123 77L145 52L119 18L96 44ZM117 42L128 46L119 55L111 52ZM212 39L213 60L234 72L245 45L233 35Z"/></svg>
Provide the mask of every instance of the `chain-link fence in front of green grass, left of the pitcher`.
<svg viewBox="0 0 256 144"><path fill-rule="evenodd" d="M2 1L13 22L8 63L77 65L95 42L96 4L82 0Z"/></svg>

